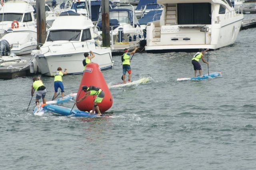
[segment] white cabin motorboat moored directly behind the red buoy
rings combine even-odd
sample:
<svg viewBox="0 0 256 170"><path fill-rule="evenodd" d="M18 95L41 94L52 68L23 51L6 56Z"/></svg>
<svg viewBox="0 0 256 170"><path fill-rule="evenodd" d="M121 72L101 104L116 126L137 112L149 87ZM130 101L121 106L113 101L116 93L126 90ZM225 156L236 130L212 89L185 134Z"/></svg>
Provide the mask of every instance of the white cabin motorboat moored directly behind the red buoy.
<svg viewBox="0 0 256 170"><path fill-rule="evenodd" d="M42 74L54 76L58 67L67 68L68 74L83 73L82 61L84 53L93 51L93 63L101 70L112 68L111 50L100 47L95 43L92 21L81 14L72 11L62 12L48 29L46 42L40 50L32 51L37 54L36 61Z"/></svg>

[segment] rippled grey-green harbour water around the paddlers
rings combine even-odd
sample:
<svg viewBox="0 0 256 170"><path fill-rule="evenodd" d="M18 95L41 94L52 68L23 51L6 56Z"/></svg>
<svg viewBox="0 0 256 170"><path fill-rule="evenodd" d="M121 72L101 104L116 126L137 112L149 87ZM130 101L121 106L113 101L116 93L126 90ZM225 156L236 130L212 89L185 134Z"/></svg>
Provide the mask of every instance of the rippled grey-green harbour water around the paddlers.
<svg viewBox="0 0 256 170"><path fill-rule="evenodd" d="M210 72L223 74L210 80L176 81L193 76L194 53L136 53L132 80L151 80L110 89L113 118L34 116L35 98L26 111L32 77L0 80L0 169L255 169L255 36L243 30L234 45L210 51ZM121 81L120 56L113 59L107 83ZM81 78L64 76L65 94ZM42 80L50 100L54 79Z"/></svg>

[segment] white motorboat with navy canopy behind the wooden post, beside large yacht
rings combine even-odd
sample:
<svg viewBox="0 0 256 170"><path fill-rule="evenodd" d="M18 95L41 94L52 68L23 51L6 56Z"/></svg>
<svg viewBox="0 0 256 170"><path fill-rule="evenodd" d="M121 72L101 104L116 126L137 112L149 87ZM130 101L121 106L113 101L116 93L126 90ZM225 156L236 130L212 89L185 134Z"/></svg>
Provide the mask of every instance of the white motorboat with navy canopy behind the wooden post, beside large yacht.
<svg viewBox="0 0 256 170"><path fill-rule="evenodd" d="M127 5L126 5L127 6ZM133 8L133 7L132 7ZM136 41L143 36L143 30L140 27L138 19L134 15L134 10L113 8L109 10L109 25L113 28L111 31L113 35L113 43ZM101 12L97 22L98 34L102 35L102 18ZM122 29L122 39L118 39L118 31ZM111 29L110 29L111 30ZM112 36L110 33L110 36Z"/></svg>

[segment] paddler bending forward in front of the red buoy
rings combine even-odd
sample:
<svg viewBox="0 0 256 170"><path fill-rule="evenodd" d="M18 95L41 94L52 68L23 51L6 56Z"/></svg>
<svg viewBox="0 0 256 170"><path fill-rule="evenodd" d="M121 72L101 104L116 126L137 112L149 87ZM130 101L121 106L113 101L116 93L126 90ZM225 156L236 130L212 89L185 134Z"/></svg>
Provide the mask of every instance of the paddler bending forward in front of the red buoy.
<svg viewBox="0 0 256 170"><path fill-rule="evenodd" d="M93 107L92 107L92 112L90 112L90 114L94 114L94 111L96 109L97 114L96 116L100 116L100 108L98 106L98 103L101 103L101 101L103 100L105 93L103 92L103 90L101 90L98 87L95 86L83 86L82 90L84 90L85 94L82 98L80 98L78 101L75 102L75 104L78 104L79 102L81 102L82 100L84 100L88 95L92 96L92 95L97 95L97 97L94 99L93 101Z"/></svg>

